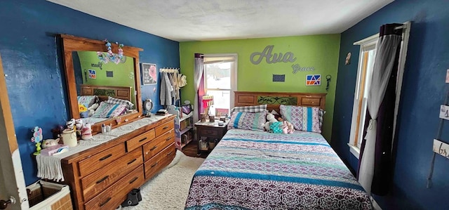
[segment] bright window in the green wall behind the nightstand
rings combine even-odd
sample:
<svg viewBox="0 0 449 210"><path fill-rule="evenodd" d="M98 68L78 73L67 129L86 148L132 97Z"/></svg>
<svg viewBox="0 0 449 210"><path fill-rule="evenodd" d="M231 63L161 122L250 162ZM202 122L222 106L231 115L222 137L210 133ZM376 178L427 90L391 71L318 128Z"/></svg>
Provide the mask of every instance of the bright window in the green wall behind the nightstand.
<svg viewBox="0 0 449 210"><path fill-rule="evenodd" d="M234 91L237 90L237 55L204 55L204 87L206 94L213 96L210 112L229 114L234 107Z"/></svg>

